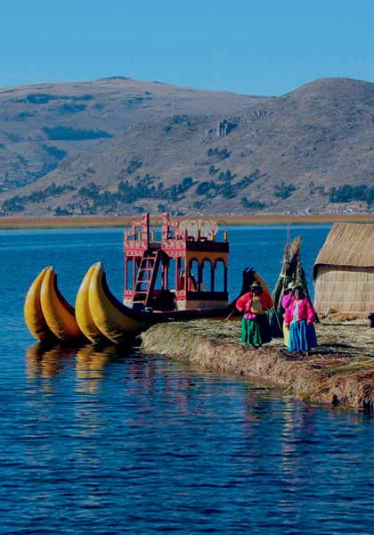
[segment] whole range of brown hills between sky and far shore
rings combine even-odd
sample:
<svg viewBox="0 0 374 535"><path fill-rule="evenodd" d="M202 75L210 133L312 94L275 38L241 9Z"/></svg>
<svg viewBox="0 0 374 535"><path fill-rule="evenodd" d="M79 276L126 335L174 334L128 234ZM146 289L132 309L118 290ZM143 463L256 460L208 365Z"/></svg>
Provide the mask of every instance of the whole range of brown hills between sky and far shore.
<svg viewBox="0 0 374 535"><path fill-rule="evenodd" d="M374 84L280 97L105 78L0 89L2 215L374 206Z"/></svg>

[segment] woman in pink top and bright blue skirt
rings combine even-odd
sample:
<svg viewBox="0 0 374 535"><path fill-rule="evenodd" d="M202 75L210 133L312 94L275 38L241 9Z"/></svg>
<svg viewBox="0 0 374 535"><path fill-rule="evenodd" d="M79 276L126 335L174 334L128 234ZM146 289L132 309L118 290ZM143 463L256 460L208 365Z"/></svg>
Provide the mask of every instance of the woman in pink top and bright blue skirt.
<svg viewBox="0 0 374 535"><path fill-rule="evenodd" d="M311 302L306 299L301 286L295 286L286 309L284 323L289 327L289 351L308 355L317 345L314 329L315 313Z"/></svg>

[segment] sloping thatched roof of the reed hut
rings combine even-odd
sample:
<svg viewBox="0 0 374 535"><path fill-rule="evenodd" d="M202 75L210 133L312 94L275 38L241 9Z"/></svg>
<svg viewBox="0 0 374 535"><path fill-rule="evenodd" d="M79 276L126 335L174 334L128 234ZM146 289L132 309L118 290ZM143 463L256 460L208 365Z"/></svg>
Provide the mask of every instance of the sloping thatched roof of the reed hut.
<svg viewBox="0 0 374 535"><path fill-rule="evenodd" d="M314 262L313 278L321 264L374 268L374 225L335 223Z"/></svg>

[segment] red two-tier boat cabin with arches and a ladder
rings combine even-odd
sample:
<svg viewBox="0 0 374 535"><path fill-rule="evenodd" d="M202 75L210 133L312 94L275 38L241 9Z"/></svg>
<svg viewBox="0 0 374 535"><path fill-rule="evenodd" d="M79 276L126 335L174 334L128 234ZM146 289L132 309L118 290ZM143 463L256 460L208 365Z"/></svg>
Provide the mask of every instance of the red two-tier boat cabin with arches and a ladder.
<svg viewBox="0 0 374 535"><path fill-rule="evenodd" d="M125 231L124 304L133 309L224 309L228 304L227 227L144 214ZM221 233L222 231L222 233ZM217 241L220 235L223 241Z"/></svg>

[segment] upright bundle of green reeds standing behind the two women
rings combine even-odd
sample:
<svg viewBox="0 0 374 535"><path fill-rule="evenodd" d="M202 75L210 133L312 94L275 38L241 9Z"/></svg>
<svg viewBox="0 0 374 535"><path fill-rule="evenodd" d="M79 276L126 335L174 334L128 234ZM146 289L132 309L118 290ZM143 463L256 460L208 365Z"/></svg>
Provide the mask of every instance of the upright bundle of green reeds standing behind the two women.
<svg viewBox="0 0 374 535"><path fill-rule="evenodd" d="M269 313L269 323L272 330L272 337L274 338L283 336L282 325L284 309L281 306L281 300L283 299L284 291L289 284L301 286L304 289L308 300L311 300L308 292L305 270L301 264L300 252L301 238L299 236L297 236L292 243L287 243L284 248L280 275L278 276L278 280L272 291L274 306Z"/></svg>

